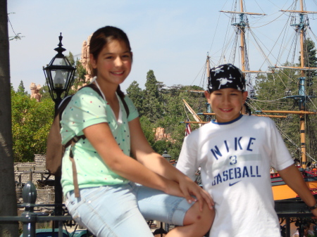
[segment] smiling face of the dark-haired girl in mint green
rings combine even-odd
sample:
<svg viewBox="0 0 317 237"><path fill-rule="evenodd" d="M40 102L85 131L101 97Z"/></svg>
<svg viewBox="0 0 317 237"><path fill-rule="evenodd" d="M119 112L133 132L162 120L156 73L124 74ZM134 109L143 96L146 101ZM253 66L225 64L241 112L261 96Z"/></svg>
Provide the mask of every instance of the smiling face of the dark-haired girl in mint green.
<svg viewBox="0 0 317 237"><path fill-rule="evenodd" d="M97 60L90 54L90 62L97 69L100 81L119 85L131 71L132 52L125 42L113 39L101 50Z"/></svg>

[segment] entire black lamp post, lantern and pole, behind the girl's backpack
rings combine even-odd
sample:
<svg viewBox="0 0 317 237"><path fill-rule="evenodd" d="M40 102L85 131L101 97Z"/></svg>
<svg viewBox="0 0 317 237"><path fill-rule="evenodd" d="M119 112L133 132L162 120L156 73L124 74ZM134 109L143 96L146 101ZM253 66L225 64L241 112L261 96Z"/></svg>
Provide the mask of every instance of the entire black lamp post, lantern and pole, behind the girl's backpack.
<svg viewBox="0 0 317 237"><path fill-rule="evenodd" d="M74 81L75 70L66 56L63 55L63 51L66 51L61 43L63 37L59 37L58 48L54 49L57 51L56 56L52 58L51 62L43 67L46 84L49 87L49 94L55 102L55 115L59 103L68 94L70 87ZM63 97L62 97L63 94ZM61 175L55 175L55 215L60 216L63 214L63 191L61 188ZM54 223L56 225L56 223ZM56 228L57 226L55 226Z"/></svg>

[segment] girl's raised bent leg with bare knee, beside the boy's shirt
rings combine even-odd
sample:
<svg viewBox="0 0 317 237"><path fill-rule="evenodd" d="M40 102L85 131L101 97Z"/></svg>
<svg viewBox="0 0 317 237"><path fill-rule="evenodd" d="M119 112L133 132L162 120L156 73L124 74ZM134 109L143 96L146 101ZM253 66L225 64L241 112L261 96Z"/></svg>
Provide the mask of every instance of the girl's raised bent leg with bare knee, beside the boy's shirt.
<svg viewBox="0 0 317 237"><path fill-rule="evenodd" d="M185 198L169 196L159 190L137 186L139 210L145 219L175 224L178 227L168 232L168 237L204 236L211 228L214 210L207 204L203 211L199 203L189 204Z"/></svg>

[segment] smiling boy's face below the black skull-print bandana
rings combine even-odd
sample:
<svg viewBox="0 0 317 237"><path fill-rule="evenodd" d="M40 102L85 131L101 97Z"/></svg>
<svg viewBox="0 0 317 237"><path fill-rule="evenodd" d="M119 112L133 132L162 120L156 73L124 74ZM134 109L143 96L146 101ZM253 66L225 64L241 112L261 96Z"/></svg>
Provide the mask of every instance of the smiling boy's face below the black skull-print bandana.
<svg viewBox="0 0 317 237"><path fill-rule="evenodd" d="M205 91L205 96L214 113L216 122L230 122L240 116L242 105L247 100L247 91L226 88L211 92Z"/></svg>

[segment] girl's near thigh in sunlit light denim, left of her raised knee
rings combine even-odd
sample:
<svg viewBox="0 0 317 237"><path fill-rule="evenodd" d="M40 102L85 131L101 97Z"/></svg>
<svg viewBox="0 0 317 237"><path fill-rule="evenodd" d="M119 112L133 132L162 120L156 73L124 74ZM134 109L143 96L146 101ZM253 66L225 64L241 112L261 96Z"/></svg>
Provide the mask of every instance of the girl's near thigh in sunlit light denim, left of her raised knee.
<svg viewBox="0 0 317 237"><path fill-rule="evenodd" d="M153 237L139 212L130 184L80 189L69 193L66 207L73 219L97 237Z"/></svg>

